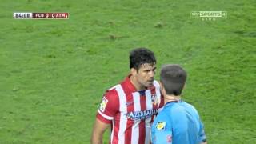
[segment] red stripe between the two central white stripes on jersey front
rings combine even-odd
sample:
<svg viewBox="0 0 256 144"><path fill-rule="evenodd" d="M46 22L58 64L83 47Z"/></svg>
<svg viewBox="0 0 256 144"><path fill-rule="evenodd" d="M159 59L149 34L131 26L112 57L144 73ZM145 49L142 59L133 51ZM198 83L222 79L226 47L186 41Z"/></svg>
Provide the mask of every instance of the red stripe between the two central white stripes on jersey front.
<svg viewBox="0 0 256 144"><path fill-rule="evenodd" d="M146 95L140 96L141 101L141 111L146 110ZM139 123L139 137L138 137L138 143L145 143L146 138L146 130L145 130L145 119L142 119Z"/></svg>

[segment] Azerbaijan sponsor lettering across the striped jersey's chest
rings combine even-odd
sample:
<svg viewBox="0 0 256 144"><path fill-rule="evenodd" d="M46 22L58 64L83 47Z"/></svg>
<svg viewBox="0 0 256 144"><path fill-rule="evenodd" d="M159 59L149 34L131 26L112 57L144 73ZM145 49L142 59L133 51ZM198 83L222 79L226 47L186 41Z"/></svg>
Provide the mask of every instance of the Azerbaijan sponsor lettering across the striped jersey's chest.
<svg viewBox="0 0 256 144"><path fill-rule="evenodd" d="M133 111L126 114L127 118L132 120L141 120L150 118L152 115L157 114L158 110L143 110L143 111Z"/></svg>

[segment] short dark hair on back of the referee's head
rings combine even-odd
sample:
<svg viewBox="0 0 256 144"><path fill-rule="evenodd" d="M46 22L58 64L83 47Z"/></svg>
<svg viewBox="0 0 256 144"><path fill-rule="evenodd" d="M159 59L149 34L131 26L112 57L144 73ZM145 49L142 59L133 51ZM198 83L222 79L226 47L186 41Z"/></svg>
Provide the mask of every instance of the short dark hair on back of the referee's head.
<svg viewBox="0 0 256 144"><path fill-rule="evenodd" d="M162 66L160 72L160 82L168 95L181 95L186 82L186 71L178 65Z"/></svg>

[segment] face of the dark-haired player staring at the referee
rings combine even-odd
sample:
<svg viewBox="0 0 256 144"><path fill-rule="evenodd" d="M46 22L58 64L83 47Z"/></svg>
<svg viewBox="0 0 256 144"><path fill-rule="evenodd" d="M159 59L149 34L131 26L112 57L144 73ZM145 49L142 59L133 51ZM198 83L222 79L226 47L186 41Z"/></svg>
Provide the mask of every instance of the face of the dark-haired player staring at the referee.
<svg viewBox="0 0 256 144"><path fill-rule="evenodd" d="M154 64L146 63L140 66L136 79L142 88L153 86L155 70L156 66Z"/></svg>

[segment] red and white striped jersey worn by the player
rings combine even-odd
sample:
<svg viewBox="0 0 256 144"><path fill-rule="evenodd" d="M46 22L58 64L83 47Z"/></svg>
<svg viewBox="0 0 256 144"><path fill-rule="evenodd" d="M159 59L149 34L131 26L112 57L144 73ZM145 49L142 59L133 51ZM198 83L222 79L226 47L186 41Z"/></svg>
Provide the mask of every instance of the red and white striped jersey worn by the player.
<svg viewBox="0 0 256 144"><path fill-rule="evenodd" d="M112 126L112 144L149 144L150 125L164 102L160 86L137 91L128 76L123 82L106 91L97 118Z"/></svg>

